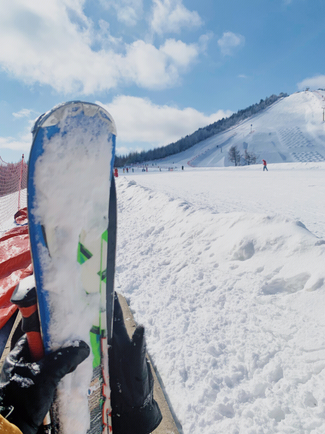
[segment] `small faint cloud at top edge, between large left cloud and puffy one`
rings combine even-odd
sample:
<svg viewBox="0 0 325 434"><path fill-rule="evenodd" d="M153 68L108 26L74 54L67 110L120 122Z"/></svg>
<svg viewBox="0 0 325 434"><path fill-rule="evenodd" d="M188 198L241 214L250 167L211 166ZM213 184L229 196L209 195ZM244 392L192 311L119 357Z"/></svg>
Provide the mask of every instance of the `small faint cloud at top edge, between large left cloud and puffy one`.
<svg viewBox="0 0 325 434"><path fill-rule="evenodd" d="M143 0L102 0L102 5L114 8L117 19L127 26L135 26L143 14Z"/></svg>

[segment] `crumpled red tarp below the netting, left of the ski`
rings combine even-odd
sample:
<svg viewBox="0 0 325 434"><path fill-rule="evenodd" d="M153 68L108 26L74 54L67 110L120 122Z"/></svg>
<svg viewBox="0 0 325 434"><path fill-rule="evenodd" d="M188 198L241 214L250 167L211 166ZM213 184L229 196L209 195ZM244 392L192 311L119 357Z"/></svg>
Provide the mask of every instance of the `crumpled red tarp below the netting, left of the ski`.
<svg viewBox="0 0 325 434"><path fill-rule="evenodd" d="M27 209L19 214L19 224L27 223ZM32 273L28 227L13 227L0 237L0 329L17 309L10 302L13 290Z"/></svg>

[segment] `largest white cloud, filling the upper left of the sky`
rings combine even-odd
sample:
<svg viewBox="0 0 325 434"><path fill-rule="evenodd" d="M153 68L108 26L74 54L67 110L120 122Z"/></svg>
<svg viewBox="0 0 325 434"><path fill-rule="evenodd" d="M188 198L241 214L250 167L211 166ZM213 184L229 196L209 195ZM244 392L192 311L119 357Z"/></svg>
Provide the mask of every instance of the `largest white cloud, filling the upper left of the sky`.
<svg viewBox="0 0 325 434"><path fill-rule="evenodd" d="M64 93L92 94L123 84L163 89L177 83L200 47L169 39L156 48L137 40L122 43L101 20L99 36L83 0L6 0L0 22L2 68L27 83ZM94 43L101 49L92 49ZM174 41L174 42L173 42ZM182 48L181 60L175 57Z"/></svg>

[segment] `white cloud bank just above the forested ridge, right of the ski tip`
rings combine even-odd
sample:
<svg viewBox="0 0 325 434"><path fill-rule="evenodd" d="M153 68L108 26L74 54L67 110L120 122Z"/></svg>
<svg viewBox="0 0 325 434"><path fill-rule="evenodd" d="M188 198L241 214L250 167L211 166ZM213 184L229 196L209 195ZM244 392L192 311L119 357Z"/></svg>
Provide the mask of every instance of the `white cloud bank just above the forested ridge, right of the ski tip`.
<svg viewBox="0 0 325 434"><path fill-rule="evenodd" d="M218 110L204 115L191 107L179 109L170 105L156 105L146 98L120 95L111 103L97 104L105 107L113 116L118 144L121 142L147 142L150 148L168 145L233 112Z"/></svg>

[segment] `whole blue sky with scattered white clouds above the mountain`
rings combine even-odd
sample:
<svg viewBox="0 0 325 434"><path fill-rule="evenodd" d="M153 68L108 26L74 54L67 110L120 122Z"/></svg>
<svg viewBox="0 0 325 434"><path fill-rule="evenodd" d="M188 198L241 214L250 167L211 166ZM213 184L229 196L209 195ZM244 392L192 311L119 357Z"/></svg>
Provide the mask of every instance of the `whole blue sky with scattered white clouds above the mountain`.
<svg viewBox="0 0 325 434"><path fill-rule="evenodd" d="M167 145L272 93L325 87L323 0L4 0L0 157L33 120L104 105L117 152Z"/></svg>

